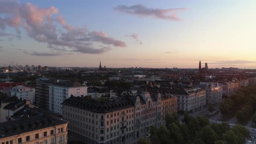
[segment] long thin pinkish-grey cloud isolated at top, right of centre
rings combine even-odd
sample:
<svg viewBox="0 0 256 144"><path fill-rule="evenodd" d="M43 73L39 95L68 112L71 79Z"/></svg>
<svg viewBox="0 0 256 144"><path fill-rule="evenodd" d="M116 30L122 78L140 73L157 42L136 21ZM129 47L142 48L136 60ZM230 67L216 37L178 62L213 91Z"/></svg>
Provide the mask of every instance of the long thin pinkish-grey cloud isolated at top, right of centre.
<svg viewBox="0 0 256 144"><path fill-rule="evenodd" d="M179 21L180 18L177 17L178 10L185 10L184 8L176 9L153 9L145 7L141 4L136 4L133 6L119 5L114 7L114 10L117 10L121 13L128 13L132 15L142 16L142 17L154 17L163 20L174 20Z"/></svg>

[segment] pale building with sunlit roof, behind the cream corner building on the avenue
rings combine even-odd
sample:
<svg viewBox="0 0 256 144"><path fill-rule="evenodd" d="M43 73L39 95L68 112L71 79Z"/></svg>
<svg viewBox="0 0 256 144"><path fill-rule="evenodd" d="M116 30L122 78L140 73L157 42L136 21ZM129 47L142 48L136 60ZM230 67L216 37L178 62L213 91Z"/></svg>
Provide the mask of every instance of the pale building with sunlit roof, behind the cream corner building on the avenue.
<svg viewBox="0 0 256 144"><path fill-rule="evenodd" d="M207 105L222 102L223 88L221 84L213 82L200 82L200 85L193 86L200 87L206 91Z"/></svg>

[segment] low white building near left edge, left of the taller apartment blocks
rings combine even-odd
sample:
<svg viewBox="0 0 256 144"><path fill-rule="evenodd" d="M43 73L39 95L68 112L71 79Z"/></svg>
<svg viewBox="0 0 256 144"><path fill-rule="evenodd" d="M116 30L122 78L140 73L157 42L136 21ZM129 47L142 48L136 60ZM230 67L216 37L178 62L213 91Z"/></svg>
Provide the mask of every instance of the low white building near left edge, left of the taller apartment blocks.
<svg viewBox="0 0 256 144"><path fill-rule="evenodd" d="M11 91L11 96L15 95L20 100L30 100L30 103L34 104L35 102L35 89L27 88L22 85L13 87Z"/></svg>

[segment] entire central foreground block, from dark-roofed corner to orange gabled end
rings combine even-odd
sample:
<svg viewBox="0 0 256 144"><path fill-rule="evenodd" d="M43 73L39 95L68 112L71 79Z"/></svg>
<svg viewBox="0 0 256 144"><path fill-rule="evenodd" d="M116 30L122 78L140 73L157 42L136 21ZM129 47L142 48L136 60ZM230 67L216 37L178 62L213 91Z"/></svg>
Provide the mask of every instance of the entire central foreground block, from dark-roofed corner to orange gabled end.
<svg viewBox="0 0 256 144"><path fill-rule="evenodd" d="M123 144L149 134L151 125L164 125L165 115L177 112L177 98L148 92L105 102L70 97L62 108L70 138L89 144Z"/></svg>

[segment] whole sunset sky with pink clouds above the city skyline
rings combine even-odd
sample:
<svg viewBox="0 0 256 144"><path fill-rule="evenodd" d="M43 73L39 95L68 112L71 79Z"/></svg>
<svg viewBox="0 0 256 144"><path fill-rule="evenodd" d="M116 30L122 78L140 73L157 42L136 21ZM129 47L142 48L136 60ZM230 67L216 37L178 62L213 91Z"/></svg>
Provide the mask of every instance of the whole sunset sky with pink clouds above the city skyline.
<svg viewBox="0 0 256 144"><path fill-rule="evenodd" d="M256 69L255 0L0 0L0 66Z"/></svg>

